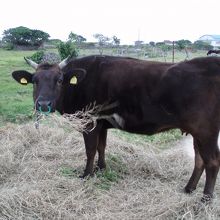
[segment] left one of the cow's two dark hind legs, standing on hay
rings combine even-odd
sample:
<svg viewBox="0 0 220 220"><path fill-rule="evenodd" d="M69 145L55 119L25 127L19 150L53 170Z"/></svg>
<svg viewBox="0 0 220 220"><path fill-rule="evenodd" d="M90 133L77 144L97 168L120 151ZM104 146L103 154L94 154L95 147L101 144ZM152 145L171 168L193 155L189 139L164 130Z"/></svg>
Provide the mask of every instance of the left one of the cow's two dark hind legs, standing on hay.
<svg viewBox="0 0 220 220"><path fill-rule="evenodd" d="M196 186L199 182L199 179L204 171L204 161L199 154L199 142L194 138L193 139L193 144L194 144L194 151L195 151L195 166L194 170L192 173L192 176L189 179L189 182L187 183L185 187L185 192L186 193L192 193L193 190L196 189Z"/></svg>

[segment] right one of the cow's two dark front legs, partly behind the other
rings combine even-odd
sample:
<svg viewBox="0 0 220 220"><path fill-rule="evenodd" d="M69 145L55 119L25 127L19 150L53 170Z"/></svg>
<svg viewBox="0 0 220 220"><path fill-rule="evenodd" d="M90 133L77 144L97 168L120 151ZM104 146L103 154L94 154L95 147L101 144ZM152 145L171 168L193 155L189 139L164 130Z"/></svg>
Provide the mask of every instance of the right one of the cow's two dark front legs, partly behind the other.
<svg viewBox="0 0 220 220"><path fill-rule="evenodd" d="M98 168L99 169L105 169L106 164L105 164L105 147L106 147L106 138L107 138L107 129L102 129L100 131L99 135L99 143L98 143L98 153L99 153L99 158L98 158Z"/></svg>

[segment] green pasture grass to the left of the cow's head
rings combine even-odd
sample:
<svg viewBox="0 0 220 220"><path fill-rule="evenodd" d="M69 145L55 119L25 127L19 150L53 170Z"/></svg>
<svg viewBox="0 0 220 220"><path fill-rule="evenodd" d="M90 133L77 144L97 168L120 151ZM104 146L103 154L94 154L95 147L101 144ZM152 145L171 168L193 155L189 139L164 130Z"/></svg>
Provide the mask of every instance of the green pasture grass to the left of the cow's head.
<svg viewBox="0 0 220 220"><path fill-rule="evenodd" d="M22 118L21 116L24 119L31 117L33 111L32 86L19 85L13 80L11 73L19 69L33 71L23 59L24 56L32 53L33 51L0 49L0 118L3 121L16 122L17 118Z"/></svg>

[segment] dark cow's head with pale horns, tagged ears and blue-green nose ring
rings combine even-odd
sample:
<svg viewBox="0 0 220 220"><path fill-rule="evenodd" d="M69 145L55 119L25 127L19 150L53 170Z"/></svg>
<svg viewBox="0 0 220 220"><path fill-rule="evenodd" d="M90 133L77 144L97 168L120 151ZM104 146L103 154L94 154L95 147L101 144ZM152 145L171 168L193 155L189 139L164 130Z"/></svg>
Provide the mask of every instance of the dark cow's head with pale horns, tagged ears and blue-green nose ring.
<svg viewBox="0 0 220 220"><path fill-rule="evenodd" d="M62 111L63 87L65 84L76 86L84 78L86 71L73 68L65 73L63 69L68 65L68 58L59 64L37 64L30 59L25 60L35 72L18 70L12 76L22 85L33 84L35 109L43 113L54 112L56 109Z"/></svg>

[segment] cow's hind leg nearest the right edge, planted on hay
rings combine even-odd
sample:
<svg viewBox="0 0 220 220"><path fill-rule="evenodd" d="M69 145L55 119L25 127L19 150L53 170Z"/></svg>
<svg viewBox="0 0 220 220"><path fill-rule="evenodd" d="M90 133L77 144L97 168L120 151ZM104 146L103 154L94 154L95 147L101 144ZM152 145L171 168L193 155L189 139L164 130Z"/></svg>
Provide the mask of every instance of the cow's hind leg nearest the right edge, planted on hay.
<svg viewBox="0 0 220 220"><path fill-rule="evenodd" d="M202 141L204 140L204 141ZM220 152L218 148L218 132L211 137L201 139L199 153L204 161L206 181L202 201L208 201L213 196L215 182L219 171Z"/></svg>

